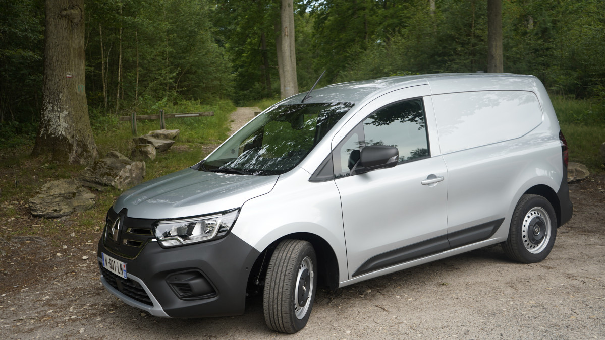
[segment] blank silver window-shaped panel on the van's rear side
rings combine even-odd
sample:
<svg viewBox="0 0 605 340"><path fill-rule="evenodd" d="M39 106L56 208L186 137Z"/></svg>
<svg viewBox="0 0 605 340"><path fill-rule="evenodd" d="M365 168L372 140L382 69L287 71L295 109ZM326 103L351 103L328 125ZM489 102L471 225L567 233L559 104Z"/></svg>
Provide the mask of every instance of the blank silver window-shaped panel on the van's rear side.
<svg viewBox="0 0 605 340"><path fill-rule="evenodd" d="M512 140L540 125L538 98L528 91L433 95L442 153Z"/></svg>

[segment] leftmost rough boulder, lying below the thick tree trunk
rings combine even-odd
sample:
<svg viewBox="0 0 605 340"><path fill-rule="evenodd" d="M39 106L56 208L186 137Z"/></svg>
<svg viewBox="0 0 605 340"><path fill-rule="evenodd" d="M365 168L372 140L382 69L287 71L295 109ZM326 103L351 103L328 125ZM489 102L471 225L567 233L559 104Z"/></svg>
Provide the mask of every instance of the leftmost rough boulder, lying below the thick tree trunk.
<svg viewBox="0 0 605 340"><path fill-rule="evenodd" d="M33 216L62 217L74 211L85 211L94 206L94 194L75 179L59 179L48 182L30 199Z"/></svg>

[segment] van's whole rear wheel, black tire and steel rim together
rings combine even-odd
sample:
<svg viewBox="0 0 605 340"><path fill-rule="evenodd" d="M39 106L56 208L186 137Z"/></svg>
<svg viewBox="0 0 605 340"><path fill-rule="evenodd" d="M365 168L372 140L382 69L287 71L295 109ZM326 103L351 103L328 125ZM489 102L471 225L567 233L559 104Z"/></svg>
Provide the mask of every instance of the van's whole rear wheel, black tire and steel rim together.
<svg viewBox="0 0 605 340"><path fill-rule="evenodd" d="M512 214L502 249L511 260L536 263L550 254L556 237L557 216L551 203L542 196L525 194Z"/></svg>

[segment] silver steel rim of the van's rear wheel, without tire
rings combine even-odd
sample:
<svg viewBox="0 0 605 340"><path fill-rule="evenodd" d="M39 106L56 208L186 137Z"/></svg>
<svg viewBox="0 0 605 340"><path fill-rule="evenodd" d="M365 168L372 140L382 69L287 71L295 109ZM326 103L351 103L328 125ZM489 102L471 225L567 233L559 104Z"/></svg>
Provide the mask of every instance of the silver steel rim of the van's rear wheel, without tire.
<svg viewBox="0 0 605 340"><path fill-rule="evenodd" d="M551 217L544 208L534 207L529 210L523 217L521 228L525 249L532 254L539 254L546 249L551 240L551 229ZM536 240L536 237L541 238Z"/></svg>

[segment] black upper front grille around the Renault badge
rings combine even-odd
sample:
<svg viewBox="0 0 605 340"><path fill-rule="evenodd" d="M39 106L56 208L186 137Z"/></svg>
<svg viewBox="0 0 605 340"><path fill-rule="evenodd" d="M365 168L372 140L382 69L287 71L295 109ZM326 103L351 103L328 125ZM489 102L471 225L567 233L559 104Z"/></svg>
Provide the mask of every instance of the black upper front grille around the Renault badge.
<svg viewBox="0 0 605 340"><path fill-rule="evenodd" d="M155 219L134 219L126 214L126 209L116 213L110 208L105 223L103 245L114 254L132 260L155 238L151 229ZM119 225L118 228L110 230L118 219L119 222L115 223ZM114 240L116 234L117 240Z"/></svg>

